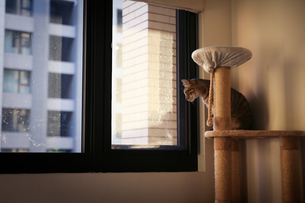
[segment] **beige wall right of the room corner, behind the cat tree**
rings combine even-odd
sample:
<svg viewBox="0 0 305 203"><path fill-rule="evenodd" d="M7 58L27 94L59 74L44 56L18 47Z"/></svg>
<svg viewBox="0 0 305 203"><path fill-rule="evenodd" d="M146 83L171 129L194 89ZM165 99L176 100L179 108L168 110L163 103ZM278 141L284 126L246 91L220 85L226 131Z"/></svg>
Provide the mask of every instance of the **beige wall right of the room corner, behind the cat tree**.
<svg viewBox="0 0 305 203"><path fill-rule="evenodd" d="M305 130L305 2L232 0L232 45L253 57L233 69L254 129ZM279 141L246 141L249 202L281 202Z"/></svg>

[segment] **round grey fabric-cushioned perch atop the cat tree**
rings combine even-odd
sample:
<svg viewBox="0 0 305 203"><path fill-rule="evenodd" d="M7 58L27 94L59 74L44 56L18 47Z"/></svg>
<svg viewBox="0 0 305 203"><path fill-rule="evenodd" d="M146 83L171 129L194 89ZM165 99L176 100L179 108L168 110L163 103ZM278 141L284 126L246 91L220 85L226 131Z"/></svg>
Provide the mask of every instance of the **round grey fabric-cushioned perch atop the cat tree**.
<svg viewBox="0 0 305 203"><path fill-rule="evenodd" d="M252 52L238 46L210 46L197 49L192 59L207 73L213 73L217 67L237 67L252 57Z"/></svg>

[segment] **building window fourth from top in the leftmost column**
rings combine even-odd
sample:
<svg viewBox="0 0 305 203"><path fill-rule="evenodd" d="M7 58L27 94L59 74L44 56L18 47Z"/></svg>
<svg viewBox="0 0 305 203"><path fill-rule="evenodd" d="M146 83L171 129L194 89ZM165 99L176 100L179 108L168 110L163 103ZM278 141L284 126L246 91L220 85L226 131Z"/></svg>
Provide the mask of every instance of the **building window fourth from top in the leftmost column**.
<svg viewBox="0 0 305 203"><path fill-rule="evenodd" d="M2 132L24 132L30 129L30 110L3 108L2 109Z"/></svg>

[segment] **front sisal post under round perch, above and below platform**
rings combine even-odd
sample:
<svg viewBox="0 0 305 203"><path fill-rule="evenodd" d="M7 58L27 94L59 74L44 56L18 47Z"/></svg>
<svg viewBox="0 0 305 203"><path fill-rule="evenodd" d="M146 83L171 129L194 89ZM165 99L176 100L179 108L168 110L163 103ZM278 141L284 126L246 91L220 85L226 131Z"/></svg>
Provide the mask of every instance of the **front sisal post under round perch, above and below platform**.
<svg viewBox="0 0 305 203"><path fill-rule="evenodd" d="M213 129L231 130L231 67L214 71ZM214 137L215 202L232 202L232 138Z"/></svg>

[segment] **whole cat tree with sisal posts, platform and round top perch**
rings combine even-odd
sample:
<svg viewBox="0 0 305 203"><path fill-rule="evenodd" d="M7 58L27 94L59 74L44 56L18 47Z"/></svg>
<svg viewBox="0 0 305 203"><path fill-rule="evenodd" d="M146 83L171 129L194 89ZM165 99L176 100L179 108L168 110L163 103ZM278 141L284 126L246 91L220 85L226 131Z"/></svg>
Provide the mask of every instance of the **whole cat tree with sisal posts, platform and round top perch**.
<svg viewBox="0 0 305 203"><path fill-rule="evenodd" d="M195 50L192 59L211 74L209 102L214 103L214 116L207 124L213 131L205 137L214 139L215 202L240 202L239 139L279 137L282 201L301 202L299 136L304 131L231 130L231 68L252 57L251 51L234 46L211 46ZM213 97L211 97L213 95Z"/></svg>

